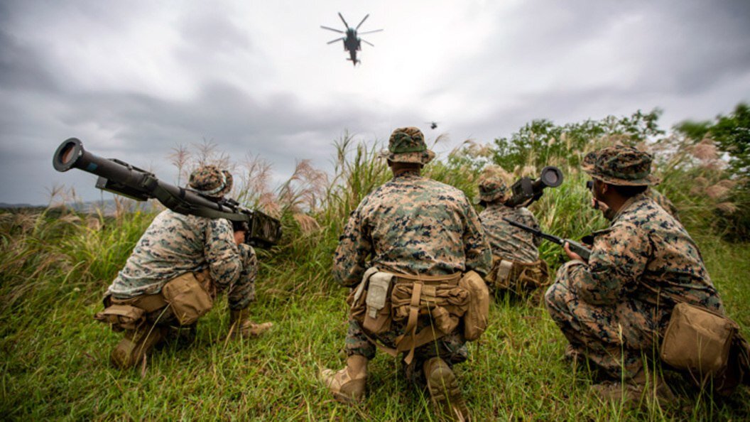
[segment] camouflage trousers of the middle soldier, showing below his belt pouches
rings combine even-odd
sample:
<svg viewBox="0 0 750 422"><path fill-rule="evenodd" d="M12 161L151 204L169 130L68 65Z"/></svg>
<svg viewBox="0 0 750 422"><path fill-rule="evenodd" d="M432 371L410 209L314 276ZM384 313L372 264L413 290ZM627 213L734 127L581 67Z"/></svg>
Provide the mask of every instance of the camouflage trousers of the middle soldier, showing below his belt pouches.
<svg viewBox="0 0 750 422"><path fill-rule="evenodd" d="M422 327L425 327L425 324L429 324L429 321L422 321L422 318L425 317L421 317L417 323L417 331L422 330ZM395 348L396 337L401 336L401 334L404 333L406 322L407 321L392 321L391 330L386 333L370 336L370 339L377 339L382 342L383 345L386 345L389 348ZM362 330L362 325L354 318L350 318L346 340L347 356L359 354L367 357L368 360L373 359L375 357L375 351L377 351L377 346L374 342L371 342L370 339L368 339L368 335ZM425 375L422 371L422 365L431 357L440 357L452 367L456 363L465 361L468 355L469 351L466 349L466 340L463 339L463 334L458 330L454 330L452 333L443 336L434 342L428 342L425 345L415 348L414 360L412 360L412 363L407 365L403 360L401 363L404 364L404 375L406 375L408 379L423 384L425 382Z"/></svg>

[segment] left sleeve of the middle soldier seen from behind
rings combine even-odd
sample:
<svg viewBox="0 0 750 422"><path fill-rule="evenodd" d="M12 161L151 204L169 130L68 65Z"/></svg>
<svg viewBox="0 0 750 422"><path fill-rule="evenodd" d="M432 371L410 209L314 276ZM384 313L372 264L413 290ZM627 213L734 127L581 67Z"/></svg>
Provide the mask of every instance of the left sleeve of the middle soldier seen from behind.
<svg viewBox="0 0 750 422"><path fill-rule="evenodd" d="M334 279L346 287L359 284L367 270L367 258L373 252L372 242L362 218L364 203L363 200L349 217L344 234L338 238L338 247L334 253Z"/></svg>

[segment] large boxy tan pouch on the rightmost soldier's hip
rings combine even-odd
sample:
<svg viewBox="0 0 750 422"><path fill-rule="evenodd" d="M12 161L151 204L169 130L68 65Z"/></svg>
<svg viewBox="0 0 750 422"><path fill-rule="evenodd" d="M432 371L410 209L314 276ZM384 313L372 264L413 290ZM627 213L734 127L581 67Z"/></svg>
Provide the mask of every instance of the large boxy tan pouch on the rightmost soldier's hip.
<svg viewBox="0 0 750 422"><path fill-rule="evenodd" d="M664 331L659 356L676 369L700 379L727 366L737 324L707 309L677 303Z"/></svg>

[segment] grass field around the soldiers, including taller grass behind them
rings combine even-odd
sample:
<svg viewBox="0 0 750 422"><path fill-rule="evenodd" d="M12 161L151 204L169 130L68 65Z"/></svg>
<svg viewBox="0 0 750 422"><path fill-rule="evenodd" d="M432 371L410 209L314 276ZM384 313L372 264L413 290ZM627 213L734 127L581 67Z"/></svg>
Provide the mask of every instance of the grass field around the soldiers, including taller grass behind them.
<svg viewBox="0 0 750 422"><path fill-rule="evenodd" d="M259 251L256 321L275 327L251 340L226 341L223 300L199 321L192 345L163 345L134 370L118 370L109 354L118 333L92 319L101 295L124 264L153 213L117 218L63 213L0 214L0 415L7 420L435 420L429 397L401 375L398 359L379 354L370 366L368 399L335 402L317 381L324 367L344 364L347 291L330 274L346 216L388 177L372 164L374 149L340 145L338 173L322 205L300 203L296 179L282 207L284 242ZM472 196L476 168L435 163L428 172ZM469 163L470 164L470 163ZM532 210L548 231L580 237L606 224L586 206L585 177L565 169L566 182ZM309 179L307 179L309 180ZM679 183L679 182L675 182ZM288 186L288 187L289 187ZM666 190L674 185L666 185ZM309 193L309 192L308 192ZM296 198L296 199L295 199ZM320 200L320 198L319 198ZM679 204L678 204L679 205ZM750 337L750 243L726 243L708 228L705 209L687 209L729 315ZM297 214L295 214L297 213ZM314 219L317 225L303 224ZM553 267L560 251L541 253ZM562 358L565 339L543 305L503 298L490 327L470 343L457 366L475 420L748 420L750 393L730 399L700 393L667 374L677 405L642 410L605 404L589 395L595 372Z"/></svg>

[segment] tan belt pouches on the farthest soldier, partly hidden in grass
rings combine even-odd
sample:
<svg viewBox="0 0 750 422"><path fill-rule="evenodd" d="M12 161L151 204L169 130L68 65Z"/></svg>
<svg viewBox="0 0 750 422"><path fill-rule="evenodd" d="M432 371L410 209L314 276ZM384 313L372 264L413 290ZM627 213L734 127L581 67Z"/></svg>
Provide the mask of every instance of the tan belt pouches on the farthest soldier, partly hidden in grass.
<svg viewBox="0 0 750 422"><path fill-rule="evenodd" d="M547 284L549 270L544 260L534 262L508 261L495 257L487 284L495 290L511 290L517 294L532 291Z"/></svg>

